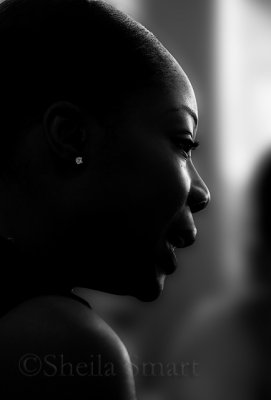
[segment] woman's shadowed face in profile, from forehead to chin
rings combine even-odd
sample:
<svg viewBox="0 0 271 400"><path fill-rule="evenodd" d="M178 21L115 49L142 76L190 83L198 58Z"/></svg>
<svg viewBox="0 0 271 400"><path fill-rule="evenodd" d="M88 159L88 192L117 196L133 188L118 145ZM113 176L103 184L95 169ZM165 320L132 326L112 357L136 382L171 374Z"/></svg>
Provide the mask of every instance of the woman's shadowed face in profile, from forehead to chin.
<svg viewBox="0 0 271 400"><path fill-rule="evenodd" d="M196 130L196 99L181 69L168 87L127 100L97 153L91 201L84 195L80 207L91 248L85 286L96 268L106 290L145 300L159 295L176 268L174 247L193 243L192 214L209 201L192 163Z"/></svg>

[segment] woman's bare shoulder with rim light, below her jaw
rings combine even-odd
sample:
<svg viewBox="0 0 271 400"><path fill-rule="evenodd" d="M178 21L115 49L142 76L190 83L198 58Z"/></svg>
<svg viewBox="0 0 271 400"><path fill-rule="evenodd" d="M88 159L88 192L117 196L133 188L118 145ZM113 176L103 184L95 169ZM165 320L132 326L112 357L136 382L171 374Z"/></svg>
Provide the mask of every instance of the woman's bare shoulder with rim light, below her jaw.
<svg viewBox="0 0 271 400"><path fill-rule="evenodd" d="M65 393L67 399L86 392L93 399L135 399L125 346L76 300L44 296L14 309L0 320L0 351L4 375L23 385L43 387L46 380L46 390Z"/></svg>

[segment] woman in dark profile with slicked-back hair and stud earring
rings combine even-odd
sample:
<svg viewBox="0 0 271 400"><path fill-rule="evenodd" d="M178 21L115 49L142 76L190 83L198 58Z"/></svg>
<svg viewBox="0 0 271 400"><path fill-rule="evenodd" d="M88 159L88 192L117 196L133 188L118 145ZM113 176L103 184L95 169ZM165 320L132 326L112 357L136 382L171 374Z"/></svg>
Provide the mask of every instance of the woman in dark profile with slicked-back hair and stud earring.
<svg viewBox="0 0 271 400"><path fill-rule="evenodd" d="M0 30L2 389L133 399L123 344L71 289L154 300L194 242L193 89L100 1L7 0Z"/></svg>

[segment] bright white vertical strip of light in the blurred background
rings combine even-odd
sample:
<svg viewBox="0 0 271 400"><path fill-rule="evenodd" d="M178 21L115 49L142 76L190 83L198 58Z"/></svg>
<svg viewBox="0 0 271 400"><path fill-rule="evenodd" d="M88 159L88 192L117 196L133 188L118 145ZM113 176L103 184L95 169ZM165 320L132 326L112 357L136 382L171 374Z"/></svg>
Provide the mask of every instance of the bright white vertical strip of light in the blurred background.
<svg viewBox="0 0 271 400"><path fill-rule="evenodd" d="M271 10L262 2L217 0L217 165L226 269L246 268L242 225L247 184L271 148ZM242 242L243 241L243 242Z"/></svg>

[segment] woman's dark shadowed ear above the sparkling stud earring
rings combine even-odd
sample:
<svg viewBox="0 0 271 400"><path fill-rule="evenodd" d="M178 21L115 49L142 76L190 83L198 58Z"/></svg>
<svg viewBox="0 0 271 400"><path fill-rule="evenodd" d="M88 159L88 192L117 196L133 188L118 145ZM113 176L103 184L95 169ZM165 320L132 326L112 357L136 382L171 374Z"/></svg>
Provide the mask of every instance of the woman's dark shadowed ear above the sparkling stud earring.
<svg viewBox="0 0 271 400"><path fill-rule="evenodd" d="M43 128L57 157L75 162L76 157L83 156L87 134L80 108L64 101L52 104L44 114Z"/></svg>

